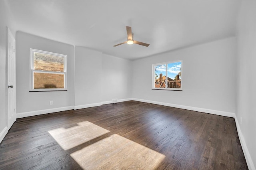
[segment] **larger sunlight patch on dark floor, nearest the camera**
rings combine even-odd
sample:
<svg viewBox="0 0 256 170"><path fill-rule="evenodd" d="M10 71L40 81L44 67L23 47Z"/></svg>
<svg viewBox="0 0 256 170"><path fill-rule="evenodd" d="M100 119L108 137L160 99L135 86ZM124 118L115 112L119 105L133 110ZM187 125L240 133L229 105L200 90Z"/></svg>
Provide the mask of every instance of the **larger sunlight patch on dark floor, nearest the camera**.
<svg viewBox="0 0 256 170"><path fill-rule="evenodd" d="M70 154L85 170L156 169L165 156L118 134Z"/></svg>

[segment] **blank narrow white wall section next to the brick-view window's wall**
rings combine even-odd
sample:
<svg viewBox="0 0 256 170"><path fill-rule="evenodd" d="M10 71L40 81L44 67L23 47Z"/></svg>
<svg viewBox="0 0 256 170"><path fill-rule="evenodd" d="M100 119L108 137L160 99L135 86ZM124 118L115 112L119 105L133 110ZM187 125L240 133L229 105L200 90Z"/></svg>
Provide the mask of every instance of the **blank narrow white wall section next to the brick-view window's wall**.
<svg viewBox="0 0 256 170"><path fill-rule="evenodd" d="M101 105L102 53L76 46L75 108ZM87 106L86 106L87 105Z"/></svg>

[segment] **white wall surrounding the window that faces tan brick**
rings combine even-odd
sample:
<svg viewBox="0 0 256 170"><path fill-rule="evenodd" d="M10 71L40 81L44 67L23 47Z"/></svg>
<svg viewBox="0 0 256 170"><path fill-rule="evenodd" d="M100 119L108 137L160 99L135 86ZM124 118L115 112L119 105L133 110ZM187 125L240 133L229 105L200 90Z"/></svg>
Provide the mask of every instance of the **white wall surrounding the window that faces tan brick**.
<svg viewBox="0 0 256 170"><path fill-rule="evenodd" d="M29 92L30 48L67 55L68 91ZM50 105L50 101L54 105ZM38 36L16 32L16 109L17 118L74 106L74 46ZM20 114L23 114L22 116Z"/></svg>

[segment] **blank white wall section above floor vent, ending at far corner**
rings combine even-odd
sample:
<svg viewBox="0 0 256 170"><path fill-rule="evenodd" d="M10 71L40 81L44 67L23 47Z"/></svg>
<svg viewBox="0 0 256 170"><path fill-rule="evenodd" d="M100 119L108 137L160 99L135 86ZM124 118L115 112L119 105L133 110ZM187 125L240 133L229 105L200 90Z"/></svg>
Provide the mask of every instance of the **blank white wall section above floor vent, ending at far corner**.
<svg viewBox="0 0 256 170"><path fill-rule="evenodd" d="M132 61L102 54L102 101L132 97Z"/></svg>

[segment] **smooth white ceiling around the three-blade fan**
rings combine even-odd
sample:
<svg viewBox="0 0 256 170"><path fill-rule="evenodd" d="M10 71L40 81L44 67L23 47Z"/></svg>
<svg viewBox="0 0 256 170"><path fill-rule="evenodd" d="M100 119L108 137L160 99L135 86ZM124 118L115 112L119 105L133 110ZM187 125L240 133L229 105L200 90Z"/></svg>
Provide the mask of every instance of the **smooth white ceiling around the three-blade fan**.
<svg viewBox="0 0 256 170"><path fill-rule="evenodd" d="M234 36L240 1L6 1L16 29L130 60ZM148 47L123 44L126 27Z"/></svg>

